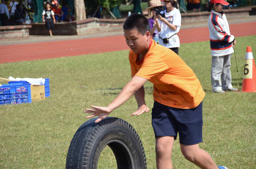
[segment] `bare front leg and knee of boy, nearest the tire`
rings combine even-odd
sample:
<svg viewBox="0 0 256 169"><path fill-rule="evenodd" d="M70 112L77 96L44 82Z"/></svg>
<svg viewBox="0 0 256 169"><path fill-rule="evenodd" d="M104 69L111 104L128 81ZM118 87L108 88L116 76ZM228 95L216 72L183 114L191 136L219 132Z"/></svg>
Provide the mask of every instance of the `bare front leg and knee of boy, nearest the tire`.
<svg viewBox="0 0 256 169"><path fill-rule="evenodd" d="M156 137L156 167L157 169L172 169L171 152L174 136Z"/></svg>

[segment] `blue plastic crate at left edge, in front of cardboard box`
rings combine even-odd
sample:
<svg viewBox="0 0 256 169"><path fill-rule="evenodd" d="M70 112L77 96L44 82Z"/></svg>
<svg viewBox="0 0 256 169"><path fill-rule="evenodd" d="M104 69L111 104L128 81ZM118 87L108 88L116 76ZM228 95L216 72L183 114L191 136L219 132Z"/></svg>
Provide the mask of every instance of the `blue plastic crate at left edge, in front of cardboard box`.
<svg viewBox="0 0 256 169"><path fill-rule="evenodd" d="M14 83L0 86L0 105L31 102L30 84Z"/></svg>

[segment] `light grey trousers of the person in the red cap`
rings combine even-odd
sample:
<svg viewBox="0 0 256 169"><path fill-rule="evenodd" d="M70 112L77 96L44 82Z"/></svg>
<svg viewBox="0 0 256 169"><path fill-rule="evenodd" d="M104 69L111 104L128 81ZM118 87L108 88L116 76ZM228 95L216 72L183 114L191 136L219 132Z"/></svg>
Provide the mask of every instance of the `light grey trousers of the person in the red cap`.
<svg viewBox="0 0 256 169"><path fill-rule="evenodd" d="M218 90L227 90L232 88L231 84L231 62L230 57L232 54L228 54L220 57L212 57L212 92Z"/></svg>

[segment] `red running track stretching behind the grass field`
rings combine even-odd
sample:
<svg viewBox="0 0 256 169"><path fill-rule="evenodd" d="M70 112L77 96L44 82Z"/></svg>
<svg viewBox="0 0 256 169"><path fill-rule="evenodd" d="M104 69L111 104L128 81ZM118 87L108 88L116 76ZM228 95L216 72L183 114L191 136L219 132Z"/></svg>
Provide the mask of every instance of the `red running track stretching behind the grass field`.
<svg viewBox="0 0 256 169"><path fill-rule="evenodd" d="M235 37L256 35L256 22L231 24L230 32ZM209 29L208 27L181 29L178 35L180 43L208 41ZM57 49L53 48L56 43L58 43ZM29 43L29 48L28 44L6 45L0 46L0 63L69 57L127 49L129 47L125 42L124 36Z"/></svg>

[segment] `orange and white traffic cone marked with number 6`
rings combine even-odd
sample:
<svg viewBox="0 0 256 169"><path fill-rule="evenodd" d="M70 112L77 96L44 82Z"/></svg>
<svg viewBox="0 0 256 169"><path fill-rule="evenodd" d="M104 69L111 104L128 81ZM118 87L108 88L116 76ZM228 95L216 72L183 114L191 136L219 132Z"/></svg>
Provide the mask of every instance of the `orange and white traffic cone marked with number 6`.
<svg viewBox="0 0 256 169"><path fill-rule="evenodd" d="M242 92L256 92L256 66L250 46L246 49Z"/></svg>

